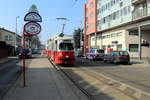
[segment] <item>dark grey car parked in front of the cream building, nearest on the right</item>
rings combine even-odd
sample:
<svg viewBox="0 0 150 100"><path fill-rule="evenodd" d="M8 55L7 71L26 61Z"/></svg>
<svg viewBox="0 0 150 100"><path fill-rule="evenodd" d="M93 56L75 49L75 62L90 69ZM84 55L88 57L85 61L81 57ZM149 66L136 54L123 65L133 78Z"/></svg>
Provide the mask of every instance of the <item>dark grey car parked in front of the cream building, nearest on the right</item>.
<svg viewBox="0 0 150 100"><path fill-rule="evenodd" d="M117 63L129 63L130 56L127 51L112 51L104 56L104 62L113 62L114 64Z"/></svg>

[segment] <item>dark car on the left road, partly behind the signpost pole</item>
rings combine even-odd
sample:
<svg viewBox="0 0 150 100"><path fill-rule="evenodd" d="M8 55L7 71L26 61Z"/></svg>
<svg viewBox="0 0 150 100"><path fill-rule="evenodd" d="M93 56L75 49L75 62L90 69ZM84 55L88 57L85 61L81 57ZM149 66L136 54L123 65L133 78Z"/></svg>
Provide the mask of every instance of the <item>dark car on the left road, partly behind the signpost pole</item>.
<svg viewBox="0 0 150 100"><path fill-rule="evenodd" d="M30 57L32 57L32 51L31 49L27 48L27 49L21 49L20 53L19 53L19 58L23 59L23 57L25 57L25 59L28 59Z"/></svg>

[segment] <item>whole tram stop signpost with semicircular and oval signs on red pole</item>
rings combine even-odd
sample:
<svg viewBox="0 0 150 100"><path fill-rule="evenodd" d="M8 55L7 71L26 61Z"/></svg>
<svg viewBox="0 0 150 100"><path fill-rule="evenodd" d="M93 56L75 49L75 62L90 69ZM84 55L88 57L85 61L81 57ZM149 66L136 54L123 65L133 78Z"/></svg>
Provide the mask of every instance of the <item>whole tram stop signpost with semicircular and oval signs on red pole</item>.
<svg viewBox="0 0 150 100"><path fill-rule="evenodd" d="M25 15L24 21L27 23L24 25L23 29L23 87L26 87L26 43L25 43L25 36L36 36L41 32L41 25L37 22L42 22L41 16L38 14L36 5L32 5L29 12Z"/></svg>

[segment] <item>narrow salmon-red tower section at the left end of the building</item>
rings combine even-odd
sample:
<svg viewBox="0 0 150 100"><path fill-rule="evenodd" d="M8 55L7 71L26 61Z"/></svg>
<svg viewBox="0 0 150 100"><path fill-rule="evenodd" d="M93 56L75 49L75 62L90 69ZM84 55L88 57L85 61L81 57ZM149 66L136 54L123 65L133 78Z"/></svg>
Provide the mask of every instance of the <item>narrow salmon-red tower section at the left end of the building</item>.
<svg viewBox="0 0 150 100"><path fill-rule="evenodd" d="M97 24L97 3L96 0L89 0L87 4L84 6L85 18L84 18L84 29L86 32L84 38L84 50L87 51L90 48L91 44L91 36L95 36L97 32L96 24ZM96 42L92 43L96 44Z"/></svg>

